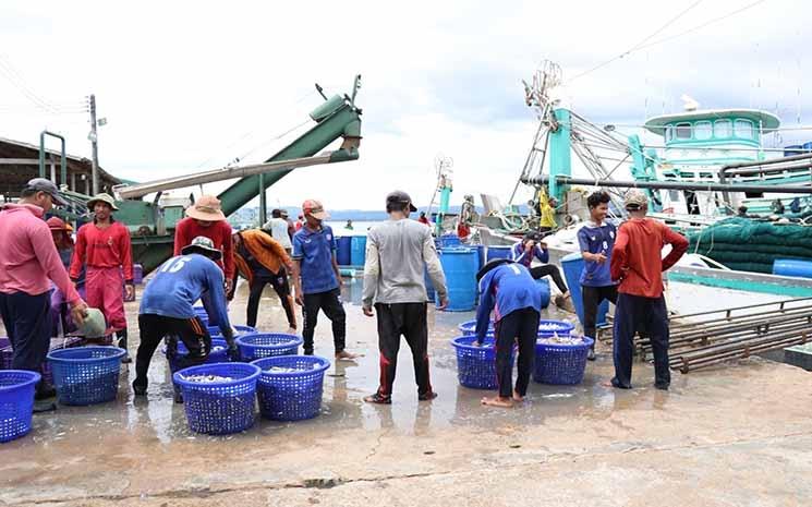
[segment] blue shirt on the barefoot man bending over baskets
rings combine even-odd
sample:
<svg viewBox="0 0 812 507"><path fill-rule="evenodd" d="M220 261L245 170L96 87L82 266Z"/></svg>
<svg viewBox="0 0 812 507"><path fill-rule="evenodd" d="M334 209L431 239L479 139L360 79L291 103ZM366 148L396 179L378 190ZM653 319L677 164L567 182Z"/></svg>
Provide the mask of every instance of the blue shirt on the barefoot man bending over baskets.
<svg viewBox="0 0 812 507"><path fill-rule="evenodd" d="M482 343L490 324L517 310L542 311L542 288L521 264L502 264L480 280L480 306L476 309L476 339Z"/></svg>

